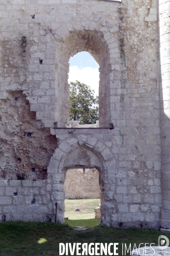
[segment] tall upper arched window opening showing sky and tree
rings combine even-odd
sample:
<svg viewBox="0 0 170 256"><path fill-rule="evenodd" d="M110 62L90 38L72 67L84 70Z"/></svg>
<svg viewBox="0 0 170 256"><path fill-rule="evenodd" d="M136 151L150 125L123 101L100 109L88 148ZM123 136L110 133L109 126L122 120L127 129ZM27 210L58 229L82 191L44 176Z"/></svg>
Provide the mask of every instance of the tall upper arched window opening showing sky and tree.
<svg viewBox="0 0 170 256"><path fill-rule="evenodd" d="M69 59L69 127L98 127L99 65L82 51Z"/></svg>

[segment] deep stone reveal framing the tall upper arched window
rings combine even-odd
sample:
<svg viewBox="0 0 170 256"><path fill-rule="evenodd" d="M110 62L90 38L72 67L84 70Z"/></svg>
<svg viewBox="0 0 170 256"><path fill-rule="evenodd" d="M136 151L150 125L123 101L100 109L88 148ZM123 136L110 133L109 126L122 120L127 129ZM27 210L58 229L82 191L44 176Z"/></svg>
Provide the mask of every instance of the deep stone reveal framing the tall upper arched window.
<svg viewBox="0 0 170 256"><path fill-rule="evenodd" d="M112 85L110 72L112 67L110 65L111 59L108 44L103 34L95 30L80 30L72 32L63 38L56 52L56 59L58 59L58 64L56 65L56 70L58 71L56 88L59 92L56 94L55 101L56 118L58 119L56 127L69 127L69 59L71 56L84 51L91 54L100 66L99 127L110 127L112 123L111 109L113 106L111 107L112 94L110 91L110 86Z"/></svg>

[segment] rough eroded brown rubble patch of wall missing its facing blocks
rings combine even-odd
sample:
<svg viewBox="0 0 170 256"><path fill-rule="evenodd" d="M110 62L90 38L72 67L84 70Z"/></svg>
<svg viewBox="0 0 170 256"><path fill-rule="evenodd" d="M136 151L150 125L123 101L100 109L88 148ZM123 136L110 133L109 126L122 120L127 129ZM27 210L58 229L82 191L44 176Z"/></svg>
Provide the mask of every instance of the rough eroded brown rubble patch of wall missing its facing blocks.
<svg viewBox="0 0 170 256"><path fill-rule="evenodd" d="M47 179L56 137L30 112L22 91L9 92L0 112L0 179Z"/></svg>

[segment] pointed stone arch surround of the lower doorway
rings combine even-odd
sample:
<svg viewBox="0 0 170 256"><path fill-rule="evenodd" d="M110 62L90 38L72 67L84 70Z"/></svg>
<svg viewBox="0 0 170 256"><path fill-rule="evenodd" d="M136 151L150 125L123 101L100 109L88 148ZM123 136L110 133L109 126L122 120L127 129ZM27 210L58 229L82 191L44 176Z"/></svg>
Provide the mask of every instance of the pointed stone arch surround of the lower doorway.
<svg viewBox="0 0 170 256"><path fill-rule="evenodd" d="M57 151L59 153L59 151ZM56 154L56 152L54 153ZM88 147L86 144L75 143L72 148L66 150L60 157L59 165L55 157L51 158L51 166L54 166L52 173L49 172L48 179L52 178L53 192L52 200L58 202L58 221L64 222L64 182L66 171L74 168L96 168L99 173L99 186L101 189L101 200L104 200L105 169L103 156ZM57 167L58 166L58 167ZM50 169L50 168L49 168ZM56 190L56 191L55 191ZM101 212L102 215L102 212Z"/></svg>

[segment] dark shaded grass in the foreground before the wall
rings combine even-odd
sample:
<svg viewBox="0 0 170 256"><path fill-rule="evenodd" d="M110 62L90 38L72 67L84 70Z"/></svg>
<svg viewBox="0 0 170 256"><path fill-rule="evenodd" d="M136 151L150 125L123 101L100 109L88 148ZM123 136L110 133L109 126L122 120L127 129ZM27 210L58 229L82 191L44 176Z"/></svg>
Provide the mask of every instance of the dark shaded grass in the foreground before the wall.
<svg viewBox="0 0 170 256"><path fill-rule="evenodd" d="M161 232L139 230L138 228L91 227L87 230L74 230L72 227L53 223L1 222L0 256L58 256L59 243L155 243ZM170 239L170 234L165 234ZM111 247L112 248L112 247ZM112 249L111 249L112 250ZM127 253L126 255L130 255Z"/></svg>

